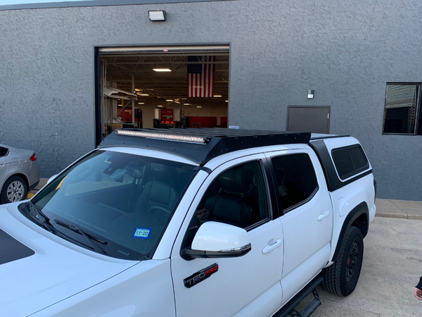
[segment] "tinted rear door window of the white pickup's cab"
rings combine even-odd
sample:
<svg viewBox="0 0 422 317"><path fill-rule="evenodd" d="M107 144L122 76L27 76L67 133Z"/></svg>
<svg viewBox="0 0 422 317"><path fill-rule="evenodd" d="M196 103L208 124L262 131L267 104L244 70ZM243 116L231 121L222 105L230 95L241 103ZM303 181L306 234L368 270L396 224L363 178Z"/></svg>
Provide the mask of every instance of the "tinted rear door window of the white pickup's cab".
<svg viewBox="0 0 422 317"><path fill-rule="evenodd" d="M283 211L297 206L318 188L314 167L307 154L293 154L271 159Z"/></svg>

